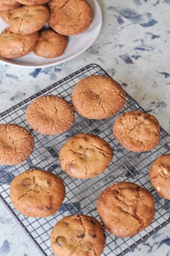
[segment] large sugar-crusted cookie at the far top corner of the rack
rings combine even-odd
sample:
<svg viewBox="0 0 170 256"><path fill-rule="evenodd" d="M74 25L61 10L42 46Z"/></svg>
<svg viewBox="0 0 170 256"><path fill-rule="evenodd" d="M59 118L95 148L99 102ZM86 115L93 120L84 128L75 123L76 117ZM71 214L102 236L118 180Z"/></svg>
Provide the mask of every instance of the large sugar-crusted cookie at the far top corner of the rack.
<svg viewBox="0 0 170 256"><path fill-rule="evenodd" d="M121 110L125 92L108 76L93 75L80 80L72 90L72 104L78 114L103 119Z"/></svg>

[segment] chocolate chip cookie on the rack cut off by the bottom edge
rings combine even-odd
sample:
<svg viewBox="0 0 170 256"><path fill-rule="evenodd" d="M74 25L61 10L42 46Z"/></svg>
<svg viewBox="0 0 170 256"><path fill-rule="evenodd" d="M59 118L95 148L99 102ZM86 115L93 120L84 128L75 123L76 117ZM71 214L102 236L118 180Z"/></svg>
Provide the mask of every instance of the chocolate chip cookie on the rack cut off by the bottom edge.
<svg viewBox="0 0 170 256"><path fill-rule="evenodd" d="M51 247L56 256L99 256L104 245L103 226L90 216L64 217L51 232Z"/></svg>

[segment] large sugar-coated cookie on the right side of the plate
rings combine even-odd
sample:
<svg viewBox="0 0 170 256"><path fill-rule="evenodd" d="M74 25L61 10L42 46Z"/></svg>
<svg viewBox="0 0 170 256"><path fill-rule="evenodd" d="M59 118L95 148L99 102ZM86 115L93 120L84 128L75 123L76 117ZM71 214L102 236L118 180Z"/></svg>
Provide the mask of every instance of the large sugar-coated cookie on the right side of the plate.
<svg viewBox="0 0 170 256"><path fill-rule="evenodd" d="M93 13L85 0L52 0L48 24L60 35L77 35L89 28Z"/></svg>

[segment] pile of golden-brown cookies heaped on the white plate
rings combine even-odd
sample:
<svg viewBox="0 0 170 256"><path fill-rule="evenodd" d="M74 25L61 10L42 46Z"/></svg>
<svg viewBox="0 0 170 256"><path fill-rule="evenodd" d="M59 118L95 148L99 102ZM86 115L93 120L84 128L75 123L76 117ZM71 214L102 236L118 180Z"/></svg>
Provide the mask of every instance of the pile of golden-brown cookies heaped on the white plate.
<svg viewBox="0 0 170 256"><path fill-rule="evenodd" d="M93 19L85 0L1 0L0 16L9 25L0 35L3 58L19 58L31 51L56 58L64 53L68 36L83 33Z"/></svg>

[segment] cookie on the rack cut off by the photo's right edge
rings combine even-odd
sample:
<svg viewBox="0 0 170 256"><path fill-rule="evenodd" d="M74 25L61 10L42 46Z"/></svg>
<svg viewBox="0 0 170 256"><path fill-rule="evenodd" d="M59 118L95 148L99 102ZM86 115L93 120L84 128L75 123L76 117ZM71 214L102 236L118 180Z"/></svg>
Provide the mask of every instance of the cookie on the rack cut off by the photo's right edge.
<svg viewBox="0 0 170 256"><path fill-rule="evenodd" d="M160 196L170 200L170 154L162 155L149 169L151 185Z"/></svg>

